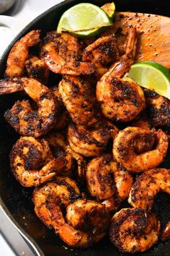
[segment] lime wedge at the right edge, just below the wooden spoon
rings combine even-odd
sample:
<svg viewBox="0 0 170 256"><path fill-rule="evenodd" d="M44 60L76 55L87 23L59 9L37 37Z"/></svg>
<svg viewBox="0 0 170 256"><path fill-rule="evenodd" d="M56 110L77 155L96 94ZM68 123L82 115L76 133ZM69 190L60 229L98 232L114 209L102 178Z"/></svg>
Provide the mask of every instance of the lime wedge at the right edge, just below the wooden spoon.
<svg viewBox="0 0 170 256"><path fill-rule="evenodd" d="M159 95L170 99L170 71L150 61L142 61L132 65L128 77L138 85L154 90Z"/></svg>

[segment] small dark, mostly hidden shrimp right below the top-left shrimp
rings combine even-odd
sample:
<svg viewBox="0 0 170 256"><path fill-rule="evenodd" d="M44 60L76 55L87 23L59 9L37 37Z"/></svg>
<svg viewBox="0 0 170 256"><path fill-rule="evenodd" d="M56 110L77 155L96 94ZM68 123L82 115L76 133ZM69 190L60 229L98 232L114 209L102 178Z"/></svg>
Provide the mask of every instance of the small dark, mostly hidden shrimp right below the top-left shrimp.
<svg viewBox="0 0 170 256"><path fill-rule="evenodd" d="M25 61L25 69L28 77L35 78L43 85L47 84L49 69L37 56L29 56Z"/></svg>

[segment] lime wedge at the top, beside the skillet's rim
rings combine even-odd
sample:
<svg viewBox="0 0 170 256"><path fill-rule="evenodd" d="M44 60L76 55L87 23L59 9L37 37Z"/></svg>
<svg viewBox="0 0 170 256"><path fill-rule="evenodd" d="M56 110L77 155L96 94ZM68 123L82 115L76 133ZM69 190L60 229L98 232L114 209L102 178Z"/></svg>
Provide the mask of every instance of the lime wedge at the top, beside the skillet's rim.
<svg viewBox="0 0 170 256"><path fill-rule="evenodd" d="M68 31L74 35L87 36L100 32L101 27L112 25L106 12L94 4L76 4L61 16L57 32Z"/></svg>

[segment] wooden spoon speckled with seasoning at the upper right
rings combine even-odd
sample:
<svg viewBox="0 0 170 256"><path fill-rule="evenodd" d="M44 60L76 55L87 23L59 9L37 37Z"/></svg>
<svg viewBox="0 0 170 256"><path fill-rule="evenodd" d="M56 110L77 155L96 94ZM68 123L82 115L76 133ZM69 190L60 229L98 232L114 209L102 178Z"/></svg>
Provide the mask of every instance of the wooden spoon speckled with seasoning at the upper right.
<svg viewBox="0 0 170 256"><path fill-rule="evenodd" d="M135 61L155 61L170 69L170 18L156 14L117 12L112 30L123 51L128 27L135 26L138 45Z"/></svg>

